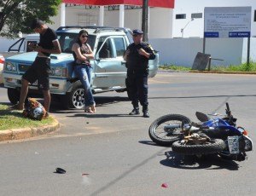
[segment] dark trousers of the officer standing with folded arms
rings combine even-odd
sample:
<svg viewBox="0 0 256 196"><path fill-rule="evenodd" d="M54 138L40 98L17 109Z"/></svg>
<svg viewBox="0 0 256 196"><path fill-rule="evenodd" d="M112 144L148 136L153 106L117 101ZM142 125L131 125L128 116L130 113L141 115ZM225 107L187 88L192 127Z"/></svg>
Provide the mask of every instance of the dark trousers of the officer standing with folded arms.
<svg viewBox="0 0 256 196"><path fill-rule="evenodd" d="M127 70L126 88L131 104L138 108L138 101L143 112L148 111L148 70Z"/></svg>

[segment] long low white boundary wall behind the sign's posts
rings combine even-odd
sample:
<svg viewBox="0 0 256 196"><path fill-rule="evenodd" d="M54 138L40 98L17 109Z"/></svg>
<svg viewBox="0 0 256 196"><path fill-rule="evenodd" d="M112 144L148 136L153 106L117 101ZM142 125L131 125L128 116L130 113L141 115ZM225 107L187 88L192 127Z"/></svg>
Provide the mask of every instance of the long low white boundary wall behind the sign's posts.
<svg viewBox="0 0 256 196"><path fill-rule="evenodd" d="M203 38L154 38L149 43L160 51L160 64L192 66L197 52L203 51ZM256 37L251 37L250 60L256 61ZM240 65L247 62L247 38L207 38L206 54L213 66Z"/></svg>

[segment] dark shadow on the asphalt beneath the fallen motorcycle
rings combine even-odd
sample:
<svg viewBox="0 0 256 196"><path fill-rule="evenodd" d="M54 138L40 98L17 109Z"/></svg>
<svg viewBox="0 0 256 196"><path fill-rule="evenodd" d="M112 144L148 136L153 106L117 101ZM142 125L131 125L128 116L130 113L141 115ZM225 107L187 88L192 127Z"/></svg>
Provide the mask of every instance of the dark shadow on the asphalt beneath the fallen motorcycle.
<svg viewBox="0 0 256 196"><path fill-rule="evenodd" d="M239 164L235 161L225 160L218 157L217 154L209 154L201 158L195 156L182 156L172 151L165 153L166 159L160 161L167 167L174 167L185 170L207 169L207 170L238 170Z"/></svg>

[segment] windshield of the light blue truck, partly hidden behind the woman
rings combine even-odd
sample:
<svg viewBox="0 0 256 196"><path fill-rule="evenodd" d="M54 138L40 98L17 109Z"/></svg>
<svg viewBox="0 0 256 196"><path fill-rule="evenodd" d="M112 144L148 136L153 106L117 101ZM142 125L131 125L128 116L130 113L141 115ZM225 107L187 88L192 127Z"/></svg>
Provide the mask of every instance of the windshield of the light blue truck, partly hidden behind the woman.
<svg viewBox="0 0 256 196"><path fill-rule="evenodd" d="M62 53L72 53L72 45L76 41L78 37L78 33L70 33L70 32L57 32L57 37L61 44L61 52ZM89 35L88 44L91 49L94 49L96 36Z"/></svg>

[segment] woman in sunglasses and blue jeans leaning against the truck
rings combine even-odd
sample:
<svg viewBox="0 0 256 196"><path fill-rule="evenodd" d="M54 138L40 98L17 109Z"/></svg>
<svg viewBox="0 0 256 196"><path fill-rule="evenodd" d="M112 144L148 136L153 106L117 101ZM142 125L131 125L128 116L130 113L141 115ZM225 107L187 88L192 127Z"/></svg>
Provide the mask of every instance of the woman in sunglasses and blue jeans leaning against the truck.
<svg viewBox="0 0 256 196"><path fill-rule="evenodd" d="M81 30L78 39L73 43L74 72L84 86L84 112L96 112L96 104L90 89L92 67L90 59L94 58L90 45L87 43L88 32Z"/></svg>

